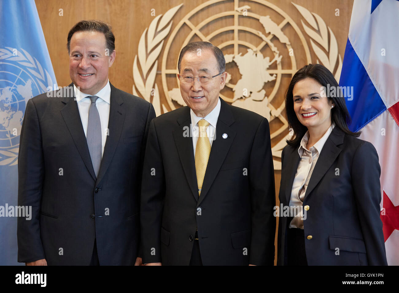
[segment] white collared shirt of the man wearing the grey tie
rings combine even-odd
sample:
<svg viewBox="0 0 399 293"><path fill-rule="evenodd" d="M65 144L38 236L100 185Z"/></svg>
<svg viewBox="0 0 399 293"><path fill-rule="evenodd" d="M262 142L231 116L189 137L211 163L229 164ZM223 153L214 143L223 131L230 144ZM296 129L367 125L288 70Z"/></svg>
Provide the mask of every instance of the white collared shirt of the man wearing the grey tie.
<svg viewBox="0 0 399 293"><path fill-rule="evenodd" d="M107 140L108 134L108 120L109 120L109 108L111 106L111 87L109 81L105 87L101 88L97 94L85 94L81 92L75 85L73 85L73 91L75 92L77 107L79 109L80 119L82 120L83 130L87 137L87 124L89 122L89 108L91 104L89 96L98 96L96 100L96 107L100 114L101 122L101 156L104 154L104 146Z"/></svg>

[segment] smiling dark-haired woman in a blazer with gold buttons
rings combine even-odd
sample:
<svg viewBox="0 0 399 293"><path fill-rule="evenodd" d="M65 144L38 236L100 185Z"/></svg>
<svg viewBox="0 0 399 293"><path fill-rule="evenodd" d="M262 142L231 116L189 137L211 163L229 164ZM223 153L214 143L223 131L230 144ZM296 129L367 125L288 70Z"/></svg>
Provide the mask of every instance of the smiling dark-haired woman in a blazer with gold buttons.
<svg viewBox="0 0 399 293"><path fill-rule="evenodd" d="M326 95L335 87L337 94ZM386 265L375 148L348 129L344 96L326 67L302 67L288 87L295 138L281 154L278 265ZM338 94L339 92L339 94Z"/></svg>

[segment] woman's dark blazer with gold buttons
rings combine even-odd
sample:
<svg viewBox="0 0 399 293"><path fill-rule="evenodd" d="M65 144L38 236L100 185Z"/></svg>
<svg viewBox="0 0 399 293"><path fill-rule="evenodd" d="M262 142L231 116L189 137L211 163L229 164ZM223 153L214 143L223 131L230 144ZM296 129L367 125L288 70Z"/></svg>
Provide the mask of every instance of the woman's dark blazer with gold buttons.
<svg viewBox="0 0 399 293"><path fill-rule="evenodd" d="M298 146L281 155L279 200L288 206L300 157ZM386 265L380 220L380 166L374 146L337 126L326 140L303 206L308 265ZM286 265L287 217L279 219L277 264ZM308 239L308 236L312 236Z"/></svg>

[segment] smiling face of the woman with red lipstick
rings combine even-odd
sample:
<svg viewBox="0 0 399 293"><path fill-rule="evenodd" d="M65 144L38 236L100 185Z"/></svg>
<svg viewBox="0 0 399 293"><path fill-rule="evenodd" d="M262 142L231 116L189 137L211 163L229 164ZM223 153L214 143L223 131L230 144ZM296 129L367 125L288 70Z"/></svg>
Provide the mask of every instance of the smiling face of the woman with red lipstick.
<svg viewBox="0 0 399 293"><path fill-rule="evenodd" d="M298 81L292 89L294 111L299 122L308 130L325 132L331 125L334 104L320 89L322 85L311 78Z"/></svg>

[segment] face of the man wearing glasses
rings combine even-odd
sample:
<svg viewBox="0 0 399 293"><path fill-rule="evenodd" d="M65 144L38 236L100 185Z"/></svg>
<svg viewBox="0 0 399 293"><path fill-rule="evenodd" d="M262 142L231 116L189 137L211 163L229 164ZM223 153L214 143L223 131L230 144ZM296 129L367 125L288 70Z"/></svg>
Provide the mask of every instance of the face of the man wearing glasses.
<svg viewBox="0 0 399 293"><path fill-rule="evenodd" d="M219 74L217 60L211 50L186 52L181 60L180 75L190 77L213 77ZM178 75L178 77L180 77ZM209 83L202 85L194 79L191 85L180 83L180 93L184 102L198 117L205 117L217 105L220 90L225 86L227 73L212 78Z"/></svg>

